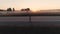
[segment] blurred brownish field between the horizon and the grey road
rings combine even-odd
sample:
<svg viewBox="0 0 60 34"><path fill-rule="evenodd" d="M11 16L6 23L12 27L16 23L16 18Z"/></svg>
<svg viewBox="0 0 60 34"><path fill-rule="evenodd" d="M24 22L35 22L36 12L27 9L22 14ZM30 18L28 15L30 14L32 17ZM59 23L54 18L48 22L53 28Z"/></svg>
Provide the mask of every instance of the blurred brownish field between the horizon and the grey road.
<svg viewBox="0 0 60 34"><path fill-rule="evenodd" d="M60 12L0 11L0 16L60 16Z"/></svg>

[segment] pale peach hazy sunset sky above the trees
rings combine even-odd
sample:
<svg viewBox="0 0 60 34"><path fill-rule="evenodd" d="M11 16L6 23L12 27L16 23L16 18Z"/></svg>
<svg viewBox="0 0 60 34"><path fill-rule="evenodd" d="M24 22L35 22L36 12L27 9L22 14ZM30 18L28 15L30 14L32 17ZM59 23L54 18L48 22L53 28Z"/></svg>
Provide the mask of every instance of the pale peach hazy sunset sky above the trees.
<svg viewBox="0 0 60 34"><path fill-rule="evenodd" d="M0 0L0 8L60 9L60 0Z"/></svg>

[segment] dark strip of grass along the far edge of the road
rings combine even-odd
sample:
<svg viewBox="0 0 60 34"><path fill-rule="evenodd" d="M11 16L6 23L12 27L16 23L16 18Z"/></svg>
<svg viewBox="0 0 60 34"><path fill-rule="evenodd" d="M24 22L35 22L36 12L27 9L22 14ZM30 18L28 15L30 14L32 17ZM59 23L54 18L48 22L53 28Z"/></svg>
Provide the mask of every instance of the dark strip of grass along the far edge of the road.
<svg viewBox="0 0 60 34"><path fill-rule="evenodd" d="M22 14L4 14L0 16L60 16L58 13L22 13Z"/></svg>

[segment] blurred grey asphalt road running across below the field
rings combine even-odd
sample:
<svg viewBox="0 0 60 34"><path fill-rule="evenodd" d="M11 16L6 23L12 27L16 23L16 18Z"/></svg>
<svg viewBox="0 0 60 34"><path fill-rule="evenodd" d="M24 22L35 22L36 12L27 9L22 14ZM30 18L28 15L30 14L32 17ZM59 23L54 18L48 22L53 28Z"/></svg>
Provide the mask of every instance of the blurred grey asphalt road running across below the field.
<svg viewBox="0 0 60 34"><path fill-rule="evenodd" d="M1 26L60 26L60 16L0 17Z"/></svg>

